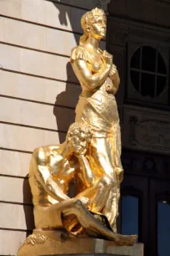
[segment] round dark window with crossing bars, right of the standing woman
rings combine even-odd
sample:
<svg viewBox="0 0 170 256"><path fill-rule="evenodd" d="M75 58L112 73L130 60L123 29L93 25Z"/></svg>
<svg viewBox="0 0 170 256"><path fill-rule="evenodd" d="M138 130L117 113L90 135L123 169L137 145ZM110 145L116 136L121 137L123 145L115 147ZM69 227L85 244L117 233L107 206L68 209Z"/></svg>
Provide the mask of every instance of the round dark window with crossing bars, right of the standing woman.
<svg viewBox="0 0 170 256"><path fill-rule="evenodd" d="M143 97L156 98L163 93L167 82L167 68L158 49L151 46L138 48L130 62L133 87Z"/></svg>

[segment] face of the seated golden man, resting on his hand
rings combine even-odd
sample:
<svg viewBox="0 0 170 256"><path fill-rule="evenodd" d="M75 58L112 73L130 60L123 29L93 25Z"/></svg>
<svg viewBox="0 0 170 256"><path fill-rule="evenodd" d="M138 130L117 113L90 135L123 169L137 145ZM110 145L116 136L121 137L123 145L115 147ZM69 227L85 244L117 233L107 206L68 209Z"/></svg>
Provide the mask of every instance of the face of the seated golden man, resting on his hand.
<svg viewBox="0 0 170 256"><path fill-rule="evenodd" d="M87 136L83 132L80 132L77 135L72 136L69 146L72 148L72 151L79 155L87 149Z"/></svg>

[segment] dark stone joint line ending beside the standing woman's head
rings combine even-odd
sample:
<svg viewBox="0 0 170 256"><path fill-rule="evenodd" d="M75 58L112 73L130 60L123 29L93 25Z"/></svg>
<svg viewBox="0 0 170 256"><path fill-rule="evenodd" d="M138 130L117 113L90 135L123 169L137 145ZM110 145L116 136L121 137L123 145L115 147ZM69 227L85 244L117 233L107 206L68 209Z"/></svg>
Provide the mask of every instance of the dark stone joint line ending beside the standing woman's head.
<svg viewBox="0 0 170 256"><path fill-rule="evenodd" d="M37 26L44 27L44 28L52 28L52 29L59 30L59 31L64 31L64 32L67 32L67 33L74 33L74 34L77 34L77 35L82 34L82 33L76 32L76 31L72 31L72 30L67 30L67 29L63 29L63 28L53 27L53 26L50 26L50 25L45 25L45 24L42 24L42 23L32 22L32 21L29 21L29 20L23 19L23 18L15 18L15 17L3 15L1 13L0 13L0 17L10 18L10 19L17 20L17 21L20 21L20 22L23 22L23 23L30 23L30 24L37 25Z"/></svg>

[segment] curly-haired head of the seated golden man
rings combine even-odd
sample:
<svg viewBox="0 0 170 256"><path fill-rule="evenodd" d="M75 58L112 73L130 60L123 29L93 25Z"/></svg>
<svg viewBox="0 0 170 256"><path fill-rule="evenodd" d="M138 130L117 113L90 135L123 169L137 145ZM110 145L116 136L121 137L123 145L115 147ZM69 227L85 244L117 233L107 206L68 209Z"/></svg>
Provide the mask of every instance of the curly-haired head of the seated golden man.
<svg viewBox="0 0 170 256"><path fill-rule="evenodd" d="M81 154L87 149L87 145L92 138L92 129L83 123L75 122L70 125L67 131L67 145L70 151Z"/></svg>

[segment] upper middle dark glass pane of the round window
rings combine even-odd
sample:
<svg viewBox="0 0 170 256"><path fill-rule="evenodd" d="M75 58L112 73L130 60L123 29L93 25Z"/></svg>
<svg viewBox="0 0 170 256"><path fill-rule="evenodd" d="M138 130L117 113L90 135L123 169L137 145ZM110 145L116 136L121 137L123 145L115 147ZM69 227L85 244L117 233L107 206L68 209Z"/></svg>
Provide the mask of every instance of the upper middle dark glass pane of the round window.
<svg viewBox="0 0 170 256"><path fill-rule="evenodd" d="M156 49L150 46L143 46L142 69L147 71L156 71Z"/></svg>

